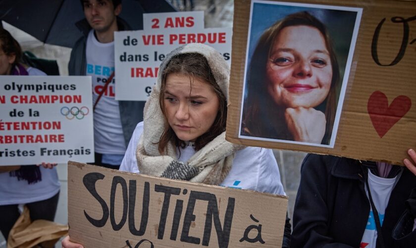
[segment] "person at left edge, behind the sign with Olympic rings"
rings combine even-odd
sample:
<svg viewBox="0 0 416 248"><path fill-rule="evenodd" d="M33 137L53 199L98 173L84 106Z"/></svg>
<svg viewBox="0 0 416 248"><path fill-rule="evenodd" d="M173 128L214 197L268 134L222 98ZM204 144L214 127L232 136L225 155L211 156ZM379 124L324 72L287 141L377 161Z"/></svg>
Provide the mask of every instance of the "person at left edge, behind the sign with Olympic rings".
<svg viewBox="0 0 416 248"><path fill-rule="evenodd" d="M19 43L0 28L0 75L46 75L21 63L21 58ZM29 208L32 221L54 220L60 189L55 165L0 166L0 232L5 240L20 216L19 204Z"/></svg>

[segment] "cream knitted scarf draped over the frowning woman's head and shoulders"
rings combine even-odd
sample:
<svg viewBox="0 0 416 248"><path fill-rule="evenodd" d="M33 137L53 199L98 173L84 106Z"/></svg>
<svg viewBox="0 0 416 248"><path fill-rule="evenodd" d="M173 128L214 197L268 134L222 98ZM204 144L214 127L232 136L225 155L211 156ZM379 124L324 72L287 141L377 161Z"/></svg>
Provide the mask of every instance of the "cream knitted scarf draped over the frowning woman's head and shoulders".
<svg viewBox="0 0 416 248"><path fill-rule="evenodd" d="M160 65L156 85L145 105L144 129L136 150L137 164L143 174L219 185L231 170L235 152L244 148L226 141L225 132L215 137L185 163L177 160L179 148L172 142L167 145L165 155L158 151L157 143L165 123L158 99L161 74L172 56L183 53L198 53L207 59L216 83L228 100L229 66L216 50L207 45L193 43L172 51Z"/></svg>

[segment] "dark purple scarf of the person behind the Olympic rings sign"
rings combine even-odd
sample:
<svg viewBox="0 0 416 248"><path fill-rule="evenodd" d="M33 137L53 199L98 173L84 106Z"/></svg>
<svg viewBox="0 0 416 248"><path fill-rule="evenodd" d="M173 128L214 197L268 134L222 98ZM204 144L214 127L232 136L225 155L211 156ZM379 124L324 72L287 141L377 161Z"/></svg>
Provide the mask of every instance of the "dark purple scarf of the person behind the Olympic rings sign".
<svg viewBox="0 0 416 248"><path fill-rule="evenodd" d="M21 64L16 64L11 69L11 75L27 76L29 73ZM42 173L39 166L26 165L21 166L19 170L9 172L10 177L17 177L17 180L26 180L28 184L36 184L42 181Z"/></svg>

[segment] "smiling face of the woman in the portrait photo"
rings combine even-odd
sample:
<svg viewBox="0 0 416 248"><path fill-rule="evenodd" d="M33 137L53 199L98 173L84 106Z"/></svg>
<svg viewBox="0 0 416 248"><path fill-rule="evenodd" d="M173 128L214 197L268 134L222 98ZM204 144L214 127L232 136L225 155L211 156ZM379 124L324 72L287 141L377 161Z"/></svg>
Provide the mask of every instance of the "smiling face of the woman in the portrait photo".
<svg viewBox="0 0 416 248"><path fill-rule="evenodd" d="M267 91L286 108L313 108L328 95L332 65L325 39L311 26L283 28L266 63Z"/></svg>

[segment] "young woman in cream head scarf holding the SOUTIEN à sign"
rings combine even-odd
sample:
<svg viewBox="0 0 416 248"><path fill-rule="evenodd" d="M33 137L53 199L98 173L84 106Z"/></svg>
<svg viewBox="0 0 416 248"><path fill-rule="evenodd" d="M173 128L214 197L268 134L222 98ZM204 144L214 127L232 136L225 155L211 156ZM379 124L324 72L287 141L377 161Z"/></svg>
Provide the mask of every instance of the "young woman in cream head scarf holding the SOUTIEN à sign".
<svg viewBox="0 0 416 248"><path fill-rule="evenodd" d="M270 149L225 140L230 69L221 54L187 44L159 68L144 122L136 126L120 170L284 195ZM286 224L283 247L290 241ZM77 247L69 238L62 245Z"/></svg>

